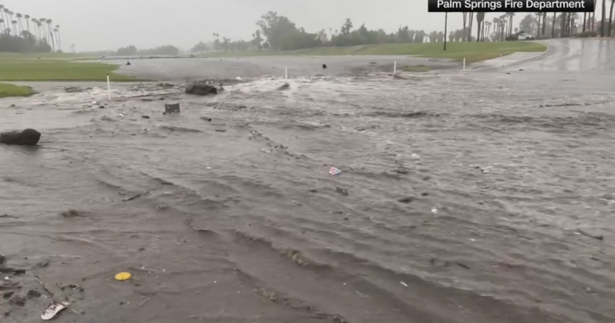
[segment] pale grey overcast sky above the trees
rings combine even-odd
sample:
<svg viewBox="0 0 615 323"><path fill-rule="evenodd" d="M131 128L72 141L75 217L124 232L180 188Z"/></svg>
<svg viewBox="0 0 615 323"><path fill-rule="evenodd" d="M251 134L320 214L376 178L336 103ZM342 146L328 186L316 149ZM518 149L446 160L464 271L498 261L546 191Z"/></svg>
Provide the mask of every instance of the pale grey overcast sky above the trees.
<svg viewBox="0 0 615 323"><path fill-rule="evenodd" d="M346 18L355 27L364 22L370 29L387 32L399 25L427 33L444 26L444 14L427 12L426 0L0 0L0 4L15 13L53 19L54 25L60 25L64 50L75 44L77 51L116 50L130 44L190 49L199 40L211 40L212 33L248 40L268 10L311 32L339 29ZM486 14L486 19L498 15ZM449 14L448 28L461 28L461 17Z"/></svg>

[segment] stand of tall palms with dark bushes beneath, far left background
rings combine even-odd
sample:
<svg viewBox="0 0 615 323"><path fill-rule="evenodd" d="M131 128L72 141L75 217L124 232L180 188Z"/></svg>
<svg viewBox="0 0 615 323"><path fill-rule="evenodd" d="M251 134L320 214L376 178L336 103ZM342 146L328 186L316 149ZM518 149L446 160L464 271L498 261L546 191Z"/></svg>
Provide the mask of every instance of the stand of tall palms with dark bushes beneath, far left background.
<svg viewBox="0 0 615 323"><path fill-rule="evenodd" d="M15 14L0 4L0 52L62 51L60 26L53 20Z"/></svg>

